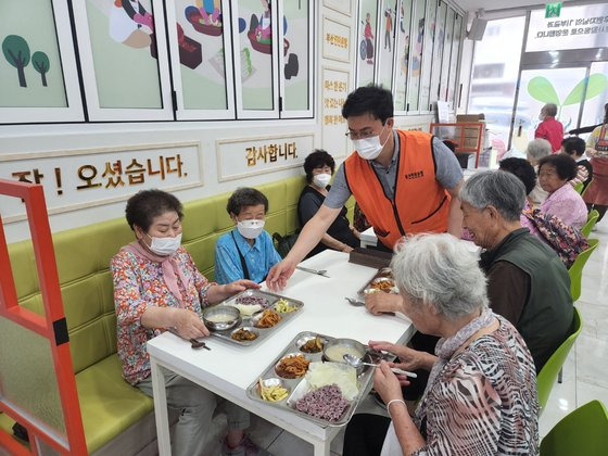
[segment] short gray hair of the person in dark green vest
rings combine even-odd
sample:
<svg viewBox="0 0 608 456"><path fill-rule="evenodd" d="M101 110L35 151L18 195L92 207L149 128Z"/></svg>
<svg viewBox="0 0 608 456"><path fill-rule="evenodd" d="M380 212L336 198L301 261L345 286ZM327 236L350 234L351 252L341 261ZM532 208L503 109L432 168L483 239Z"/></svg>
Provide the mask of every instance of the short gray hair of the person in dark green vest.
<svg viewBox="0 0 608 456"><path fill-rule="evenodd" d="M459 197L477 210L493 206L506 220L516 221L525 205L525 187L510 173L489 170L465 181Z"/></svg>

